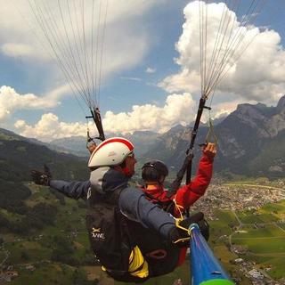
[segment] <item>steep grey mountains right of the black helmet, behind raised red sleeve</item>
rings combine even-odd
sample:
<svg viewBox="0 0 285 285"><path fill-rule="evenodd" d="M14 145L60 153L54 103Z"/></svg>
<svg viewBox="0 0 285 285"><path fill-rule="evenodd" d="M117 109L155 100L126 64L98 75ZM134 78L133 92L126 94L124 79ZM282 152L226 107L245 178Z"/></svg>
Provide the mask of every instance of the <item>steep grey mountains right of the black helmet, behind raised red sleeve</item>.
<svg viewBox="0 0 285 285"><path fill-rule="evenodd" d="M276 107L265 104L240 104L214 127L218 142L216 172L224 175L285 174L285 96ZM198 142L204 142L208 127L199 128ZM144 159L164 159L179 167L191 138L191 128L179 126L159 136L159 142L143 155ZM199 150L196 148L196 158ZM194 163L195 165L195 163Z"/></svg>

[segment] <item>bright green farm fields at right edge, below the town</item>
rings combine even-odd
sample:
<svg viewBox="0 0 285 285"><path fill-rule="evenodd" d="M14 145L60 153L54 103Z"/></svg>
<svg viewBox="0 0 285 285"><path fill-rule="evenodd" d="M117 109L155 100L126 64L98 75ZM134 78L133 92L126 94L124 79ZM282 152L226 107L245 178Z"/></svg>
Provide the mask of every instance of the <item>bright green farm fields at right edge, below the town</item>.
<svg viewBox="0 0 285 285"><path fill-rule="evenodd" d="M239 233L232 234L232 243L248 248L240 257L256 262L261 269L270 268L268 274L275 279L284 278L285 226L281 223L285 211L284 200L267 204L255 213L237 213L241 223L252 221L240 227ZM258 219L254 219L257 216ZM258 222L257 222L258 221Z"/></svg>

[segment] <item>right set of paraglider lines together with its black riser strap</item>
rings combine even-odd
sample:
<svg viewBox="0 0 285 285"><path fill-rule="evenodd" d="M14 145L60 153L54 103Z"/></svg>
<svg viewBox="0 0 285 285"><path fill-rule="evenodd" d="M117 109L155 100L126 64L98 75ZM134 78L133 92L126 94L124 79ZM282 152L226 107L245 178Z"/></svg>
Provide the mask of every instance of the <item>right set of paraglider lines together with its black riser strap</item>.
<svg viewBox="0 0 285 285"><path fill-rule="evenodd" d="M186 183L191 181L194 142L204 109L209 110L210 133L216 140L211 128L211 102L216 88L235 68L237 61L258 34L258 28L254 27L253 23L264 8L264 4L265 0L224 0L220 3L198 0L191 3L191 11L186 11L199 22L197 33L192 32L191 37L199 37L199 48L197 47L196 51L199 51L200 99L191 131L191 142L183 166L172 183L172 189L179 188L185 173ZM187 27L184 27L184 33L187 32L189 32ZM183 58L179 61L192 61L192 58ZM206 106L210 96L211 102Z"/></svg>

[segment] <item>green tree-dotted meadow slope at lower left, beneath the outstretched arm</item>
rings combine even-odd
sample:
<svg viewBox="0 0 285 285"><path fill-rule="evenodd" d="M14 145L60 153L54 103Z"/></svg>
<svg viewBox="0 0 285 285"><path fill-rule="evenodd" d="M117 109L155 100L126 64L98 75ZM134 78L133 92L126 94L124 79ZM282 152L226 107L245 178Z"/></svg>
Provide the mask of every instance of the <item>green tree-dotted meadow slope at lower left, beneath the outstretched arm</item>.
<svg viewBox="0 0 285 285"><path fill-rule="evenodd" d="M0 225L3 242L0 261L4 259L4 252L8 251L10 254L4 269L10 268L19 274L11 284L36 285L39 281L43 285L96 284L95 280L100 280L100 284L115 284L102 273L89 249L85 231L85 204L65 198L62 202L47 187L32 183L27 187L31 195L23 204L30 208L35 221L24 228L20 227L21 230ZM39 208L45 212L44 216L37 214L36 209ZM28 215L1 209L0 216L8 223L20 224ZM159 278L159 282L165 280L170 283L178 278L189 281L188 267L184 265L175 273ZM88 274L92 281L88 281ZM158 280L151 280L146 284L159 283Z"/></svg>

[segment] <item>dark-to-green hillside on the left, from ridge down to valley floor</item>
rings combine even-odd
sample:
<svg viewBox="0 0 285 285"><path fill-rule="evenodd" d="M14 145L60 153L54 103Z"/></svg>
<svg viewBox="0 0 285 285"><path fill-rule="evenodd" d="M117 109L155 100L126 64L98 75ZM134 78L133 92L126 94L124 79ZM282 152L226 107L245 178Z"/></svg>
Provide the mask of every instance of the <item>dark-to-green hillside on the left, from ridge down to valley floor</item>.
<svg viewBox="0 0 285 285"><path fill-rule="evenodd" d="M30 169L44 164L54 178L85 180L89 175L85 160L0 130L0 264L4 272L17 271L15 284L71 284L85 280L81 264L94 265L85 236L85 205L28 183Z"/></svg>

